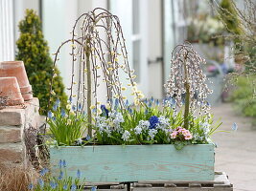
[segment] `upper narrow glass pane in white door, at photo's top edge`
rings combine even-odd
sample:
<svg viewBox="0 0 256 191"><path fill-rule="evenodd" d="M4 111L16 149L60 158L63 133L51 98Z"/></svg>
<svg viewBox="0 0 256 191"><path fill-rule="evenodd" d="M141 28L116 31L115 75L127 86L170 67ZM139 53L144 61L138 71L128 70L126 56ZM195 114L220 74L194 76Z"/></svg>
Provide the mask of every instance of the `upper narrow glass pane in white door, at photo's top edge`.
<svg viewBox="0 0 256 191"><path fill-rule="evenodd" d="M132 33L140 32L139 0L132 0Z"/></svg>

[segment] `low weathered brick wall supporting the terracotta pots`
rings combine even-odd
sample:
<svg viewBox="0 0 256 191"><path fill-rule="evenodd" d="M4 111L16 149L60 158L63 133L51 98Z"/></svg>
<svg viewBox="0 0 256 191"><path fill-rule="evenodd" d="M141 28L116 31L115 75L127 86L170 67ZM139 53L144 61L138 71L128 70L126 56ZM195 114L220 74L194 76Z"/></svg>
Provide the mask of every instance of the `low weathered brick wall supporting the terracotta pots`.
<svg viewBox="0 0 256 191"><path fill-rule="evenodd" d="M13 165L26 160L24 129L38 128L39 101L33 98L25 107L10 106L0 110L0 162Z"/></svg>

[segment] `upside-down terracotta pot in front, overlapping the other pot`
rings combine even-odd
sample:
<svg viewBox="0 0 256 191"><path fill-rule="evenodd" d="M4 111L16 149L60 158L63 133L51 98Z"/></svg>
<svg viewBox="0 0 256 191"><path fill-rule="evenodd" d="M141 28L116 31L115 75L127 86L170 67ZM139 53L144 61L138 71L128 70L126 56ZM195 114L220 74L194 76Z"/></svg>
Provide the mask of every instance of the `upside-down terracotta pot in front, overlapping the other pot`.
<svg viewBox="0 0 256 191"><path fill-rule="evenodd" d="M6 100L6 105L24 103L16 77L0 77L0 96Z"/></svg>

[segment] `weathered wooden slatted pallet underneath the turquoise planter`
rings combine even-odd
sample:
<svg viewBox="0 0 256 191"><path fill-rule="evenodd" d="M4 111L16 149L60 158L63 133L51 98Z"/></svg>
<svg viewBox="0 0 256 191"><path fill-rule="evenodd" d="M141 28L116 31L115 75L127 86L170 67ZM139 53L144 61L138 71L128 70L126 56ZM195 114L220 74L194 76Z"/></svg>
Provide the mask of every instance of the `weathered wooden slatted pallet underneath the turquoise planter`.
<svg viewBox="0 0 256 191"><path fill-rule="evenodd" d="M86 191L90 191L93 186L87 183ZM233 185L223 172L215 173L215 180L207 181L139 181L139 182L101 182L93 183L97 186L97 191L233 191Z"/></svg>

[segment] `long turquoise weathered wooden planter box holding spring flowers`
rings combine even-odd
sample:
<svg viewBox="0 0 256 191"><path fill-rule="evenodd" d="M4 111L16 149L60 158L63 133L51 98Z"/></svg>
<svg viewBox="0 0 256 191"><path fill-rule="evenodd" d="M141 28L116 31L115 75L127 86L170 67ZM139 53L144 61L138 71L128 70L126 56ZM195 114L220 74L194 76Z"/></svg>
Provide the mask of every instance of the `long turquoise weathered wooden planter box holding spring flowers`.
<svg viewBox="0 0 256 191"><path fill-rule="evenodd" d="M97 145L50 148L53 172L65 159L68 176L86 182L142 180L214 180L214 145Z"/></svg>

